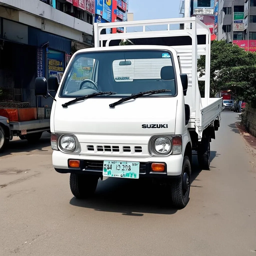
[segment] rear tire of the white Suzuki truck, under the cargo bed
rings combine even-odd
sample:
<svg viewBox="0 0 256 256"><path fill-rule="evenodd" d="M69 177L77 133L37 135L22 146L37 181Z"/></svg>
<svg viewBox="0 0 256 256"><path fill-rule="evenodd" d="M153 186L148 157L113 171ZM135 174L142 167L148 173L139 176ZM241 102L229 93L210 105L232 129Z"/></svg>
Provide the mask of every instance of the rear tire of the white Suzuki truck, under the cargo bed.
<svg viewBox="0 0 256 256"><path fill-rule="evenodd" d="M200 168L209 170L211 154L210 137L202 138L197 147L197 160Z"/></svg>

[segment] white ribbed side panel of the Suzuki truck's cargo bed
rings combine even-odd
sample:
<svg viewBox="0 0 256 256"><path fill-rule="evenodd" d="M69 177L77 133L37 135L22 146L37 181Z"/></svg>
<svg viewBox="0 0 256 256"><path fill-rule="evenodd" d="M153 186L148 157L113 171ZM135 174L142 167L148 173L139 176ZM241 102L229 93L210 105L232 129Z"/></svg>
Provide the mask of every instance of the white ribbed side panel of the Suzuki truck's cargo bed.
<svg viewBox="0 0 256 256"><path fill-rule="evenodd" d="M202 108L201 120L200 120L200 130L201 132L211 124L221 113L222 111L222 98L216 98L216 101L212 102L208 106Z"/></svg>

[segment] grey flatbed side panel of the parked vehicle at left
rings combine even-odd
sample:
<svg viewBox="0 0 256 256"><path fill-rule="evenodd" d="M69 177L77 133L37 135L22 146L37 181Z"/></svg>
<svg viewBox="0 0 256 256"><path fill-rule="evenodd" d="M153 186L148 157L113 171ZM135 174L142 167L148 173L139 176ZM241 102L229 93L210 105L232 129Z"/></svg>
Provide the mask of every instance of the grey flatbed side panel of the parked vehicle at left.
<svg viewBox="0 0 256 256"><path fill-rule="evenodd" d="M36 130L36 129L47 129L50 130L50 119L33 120L26 122L10 122L10 129L12 131L21 130Z"/></svg>

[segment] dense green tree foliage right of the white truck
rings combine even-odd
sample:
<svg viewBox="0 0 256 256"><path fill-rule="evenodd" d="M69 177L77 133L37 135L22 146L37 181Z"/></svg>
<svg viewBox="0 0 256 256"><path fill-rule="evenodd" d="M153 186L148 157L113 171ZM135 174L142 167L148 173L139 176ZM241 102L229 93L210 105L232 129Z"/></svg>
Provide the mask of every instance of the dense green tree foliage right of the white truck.
<svg viewBox="0 0 256 256"><path fill-rule="evenodd" d="M197 69L200 77L205 74L205 56L198 59ZM214 40L211 42L210 97L227 89L240 100L254 105L256 54L237 45Z"/></svg>

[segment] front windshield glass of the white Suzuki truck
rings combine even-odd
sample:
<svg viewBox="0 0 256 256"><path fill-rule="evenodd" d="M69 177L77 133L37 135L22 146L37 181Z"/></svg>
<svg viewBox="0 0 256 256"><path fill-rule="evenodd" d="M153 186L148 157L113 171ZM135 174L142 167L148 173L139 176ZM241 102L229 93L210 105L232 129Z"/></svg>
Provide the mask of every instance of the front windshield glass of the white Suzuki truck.
<svg viewBox="0 0 256 256"><path fill-rule="evenodd" d="M143 91L170 91L147 97L175 96L176 79L161 79L161 69L173 69L170 52L160 50L119 50L77 54L62 83L60 97L76 98L94 92L116 92L97 97L120 98ZM175 74L175 70L173 69Z"/></svg>

